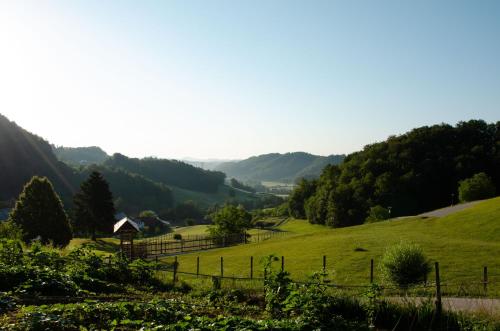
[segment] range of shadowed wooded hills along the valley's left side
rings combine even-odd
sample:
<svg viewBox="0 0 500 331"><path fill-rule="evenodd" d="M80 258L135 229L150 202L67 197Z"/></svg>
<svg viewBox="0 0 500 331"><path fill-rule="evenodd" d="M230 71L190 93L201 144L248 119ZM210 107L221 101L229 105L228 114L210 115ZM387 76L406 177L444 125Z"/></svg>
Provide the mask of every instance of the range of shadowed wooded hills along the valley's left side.
<svg viewBox="0 0 500 331"><path fill-rule="evenodd" d="M0 202L12 205L33 176L46 176L54 184L66 207L92 170L101 172L110 184L118 210L137 214L142 210L165 212L176 203L191 200L201 208L227 200L253 203L253 194L231 190L224 174L195 168L179 161L130 159L114 155L102 164L74 168L81 158L99 163L105 153L98 147L55 148L6 117L0 115ZM104 153L104 154L103 154ZM58 160L60 157L66 162ZM69 160L68 160L69 159Z"/></svg>

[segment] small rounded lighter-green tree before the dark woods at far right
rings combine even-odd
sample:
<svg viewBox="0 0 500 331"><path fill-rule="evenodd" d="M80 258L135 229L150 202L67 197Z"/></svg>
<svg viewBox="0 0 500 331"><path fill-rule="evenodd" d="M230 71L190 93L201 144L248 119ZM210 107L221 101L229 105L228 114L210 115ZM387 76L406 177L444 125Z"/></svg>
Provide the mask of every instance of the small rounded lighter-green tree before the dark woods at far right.
<svg viewBox="0 0 500 331"><path fill-rule="evenodd" d="M460 181L458 198L461 202L491 198L495 195L495 185L484 172Z"/></svg>

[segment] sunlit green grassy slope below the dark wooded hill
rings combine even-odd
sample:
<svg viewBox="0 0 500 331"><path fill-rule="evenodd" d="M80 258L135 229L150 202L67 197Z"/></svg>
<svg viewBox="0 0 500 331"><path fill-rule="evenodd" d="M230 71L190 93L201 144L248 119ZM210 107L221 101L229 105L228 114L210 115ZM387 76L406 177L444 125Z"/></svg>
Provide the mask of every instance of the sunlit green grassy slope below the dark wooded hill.
<svg viewBox="0 0 500 331"><path fill-rule="evenodd" d="M199 255L201 272L218 274L219 259L224 256L225 275L247 276L251 255L258 261L274 253L284 255L286 269L293 278L300 279L319 270L322 256L327 255L328 269L333 268L337 283L360 284L368 282L371 258L377 263L388 245L409 240L420 244L433 261L440 262L444 281L479 281L487 265L490 280L496 282L491 287L496 291L500 288L500 198L442 218L391 220L343 229L294 220L281 228L290 235L180 256L180 270L194 271ZM356 252L355 248L367 251Z"/></svg>

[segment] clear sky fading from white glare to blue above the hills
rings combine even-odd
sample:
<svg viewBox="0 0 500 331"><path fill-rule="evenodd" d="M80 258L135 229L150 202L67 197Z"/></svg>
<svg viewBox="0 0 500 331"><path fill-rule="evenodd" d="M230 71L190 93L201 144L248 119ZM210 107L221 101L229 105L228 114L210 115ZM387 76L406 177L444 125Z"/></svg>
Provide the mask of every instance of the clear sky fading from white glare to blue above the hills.
<svg viewBox="0 0 500 331"><path fill-rule="evenodd" d="M500 1L4 1L0 113L57 145L348 153L500 120Z"/></svg>

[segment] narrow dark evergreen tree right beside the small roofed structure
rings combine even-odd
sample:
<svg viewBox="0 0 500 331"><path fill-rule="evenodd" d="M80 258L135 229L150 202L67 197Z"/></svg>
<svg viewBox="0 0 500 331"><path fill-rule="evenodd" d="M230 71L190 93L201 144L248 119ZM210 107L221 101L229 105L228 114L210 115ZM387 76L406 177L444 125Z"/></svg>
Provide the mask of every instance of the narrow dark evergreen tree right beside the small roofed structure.
<svg viewBox="0 0 500 331"><path fill-rule="evenodd" d="M97 232L111 234L115 222L115 206L108 182L94 171L80 185L80 192L74 197L75 227L79 231L90 233L96 240Z"/></svg>

